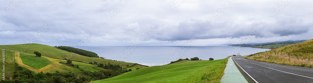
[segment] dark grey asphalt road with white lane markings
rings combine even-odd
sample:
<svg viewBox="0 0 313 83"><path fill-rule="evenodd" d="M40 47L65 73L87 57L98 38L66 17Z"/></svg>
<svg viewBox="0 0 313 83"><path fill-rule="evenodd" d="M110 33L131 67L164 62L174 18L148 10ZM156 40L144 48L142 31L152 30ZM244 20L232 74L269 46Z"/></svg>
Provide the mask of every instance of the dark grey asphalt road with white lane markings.
<svg viewBox="0 0 313 83"><path fill-rule="evenodd" d="M248 82L313 83L313 68L259 62L242 56L233 57L233 60Z"/></svg>

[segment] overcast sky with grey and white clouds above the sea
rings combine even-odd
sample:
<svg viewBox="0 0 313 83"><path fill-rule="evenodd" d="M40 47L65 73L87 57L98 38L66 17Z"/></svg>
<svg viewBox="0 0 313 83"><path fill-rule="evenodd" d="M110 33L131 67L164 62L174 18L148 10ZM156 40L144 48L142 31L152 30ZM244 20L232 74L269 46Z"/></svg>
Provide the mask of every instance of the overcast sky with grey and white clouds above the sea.
<svg viewBox="0 0 313 83"><path fill-rule="evenodd" d="M181 46L313 39L312 0L1 0L0 44Z"/></svg>

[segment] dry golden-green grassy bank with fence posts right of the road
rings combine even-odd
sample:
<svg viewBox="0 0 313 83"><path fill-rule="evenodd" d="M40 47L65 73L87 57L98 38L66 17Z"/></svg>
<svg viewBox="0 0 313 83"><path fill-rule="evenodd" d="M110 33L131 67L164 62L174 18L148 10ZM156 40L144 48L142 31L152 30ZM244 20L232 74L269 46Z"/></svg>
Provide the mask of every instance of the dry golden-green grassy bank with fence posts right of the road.
<svg viewBox="0 0 313 83"><path fill-rule="evenodd" d="M267 52L244 56L244 58L291 66L313 67L313 39Z"/></svg>

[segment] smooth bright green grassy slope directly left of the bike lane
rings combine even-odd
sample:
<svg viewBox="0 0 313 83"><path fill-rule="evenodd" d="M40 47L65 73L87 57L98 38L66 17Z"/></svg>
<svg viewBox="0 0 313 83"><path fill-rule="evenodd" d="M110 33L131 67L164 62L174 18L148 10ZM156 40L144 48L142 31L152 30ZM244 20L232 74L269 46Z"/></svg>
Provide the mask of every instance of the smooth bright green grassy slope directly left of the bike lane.
<svg viewBox="0 0 313 83"><path fill-rule="evenodd" d="M92 83L219 83L227 61L227 58L213 61L181 61L170 65L146 67Z"/></svg>

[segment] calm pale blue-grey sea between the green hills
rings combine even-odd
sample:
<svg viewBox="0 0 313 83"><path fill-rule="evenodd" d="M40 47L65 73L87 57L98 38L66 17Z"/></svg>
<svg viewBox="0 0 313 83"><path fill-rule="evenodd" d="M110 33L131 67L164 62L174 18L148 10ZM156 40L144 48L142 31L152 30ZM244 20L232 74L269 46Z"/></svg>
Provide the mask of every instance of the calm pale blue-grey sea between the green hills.
<svg viewBox="0 0 313 83"><path fill-rule="evenodd" d="M139 63L147 66L168 64L179 58L198 57L202 60L223 59L239 53L249 55L269 49L236 46L83 46L74 47L97 53L106 59Z"/></svg>

